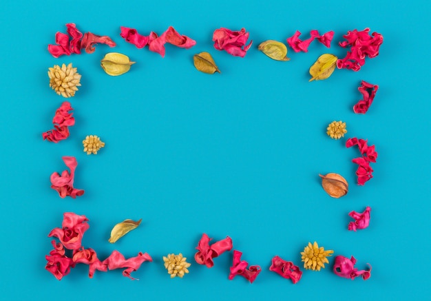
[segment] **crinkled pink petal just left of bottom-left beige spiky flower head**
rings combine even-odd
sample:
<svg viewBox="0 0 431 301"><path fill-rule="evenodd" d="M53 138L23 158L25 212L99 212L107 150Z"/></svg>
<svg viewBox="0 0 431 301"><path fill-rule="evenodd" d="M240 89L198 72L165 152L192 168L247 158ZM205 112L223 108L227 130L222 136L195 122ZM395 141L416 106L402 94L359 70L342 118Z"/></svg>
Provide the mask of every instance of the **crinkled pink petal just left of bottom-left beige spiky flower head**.
<svg viewBox="0 0 431 301"><path fill-rule="evenodd" d="M153 261L153 259L151 258L151 256L148 255L148 253L139 252L138 256L125 259L123 254L114 250L108 258L103 260L102 263L107 265L109 270L127 268L123 271L123 276L135 280L135 278L132 278L132 276L130 276L130 273L139 269L140 265L143 264L143 262L145 261Z"/></svg>

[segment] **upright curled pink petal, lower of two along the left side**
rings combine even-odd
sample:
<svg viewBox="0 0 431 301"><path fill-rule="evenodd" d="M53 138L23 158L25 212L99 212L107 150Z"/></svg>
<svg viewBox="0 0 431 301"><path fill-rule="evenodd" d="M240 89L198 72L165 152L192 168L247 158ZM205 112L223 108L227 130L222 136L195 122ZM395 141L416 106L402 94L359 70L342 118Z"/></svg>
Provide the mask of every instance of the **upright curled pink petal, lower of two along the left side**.
<svg viewBox="0 0 431 301"><path fill-rule="evenodd" d="M70 169L70 173L67 170L63 170L61 176L58 172L53 172L51 174L51 188L59 193L61 198L70 196L71 198L76 198L76 196L82 196L84 191L82 189L76 189L73 187L75 169L78 166L78 162L75 157L63 156L63 161L67 167Z"/></svg>

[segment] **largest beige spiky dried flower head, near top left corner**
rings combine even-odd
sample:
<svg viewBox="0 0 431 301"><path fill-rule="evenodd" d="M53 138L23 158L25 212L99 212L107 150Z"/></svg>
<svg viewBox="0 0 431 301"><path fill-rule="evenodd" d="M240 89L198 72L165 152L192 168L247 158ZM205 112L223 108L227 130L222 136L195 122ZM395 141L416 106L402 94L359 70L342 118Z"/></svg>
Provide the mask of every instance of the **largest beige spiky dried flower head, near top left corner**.
<svg viewBox="0 0 431 301"><path fill-rule="evenodd" d="M78 91L78 86L81 85L81 74L76 72L76 68L72 67L72 63L69 65L63 64L61 68L59 65L54 65L52 68L48 68L48 76L50 76L50 87L52 90L63 97L75 96L75 92Z"/></svg>

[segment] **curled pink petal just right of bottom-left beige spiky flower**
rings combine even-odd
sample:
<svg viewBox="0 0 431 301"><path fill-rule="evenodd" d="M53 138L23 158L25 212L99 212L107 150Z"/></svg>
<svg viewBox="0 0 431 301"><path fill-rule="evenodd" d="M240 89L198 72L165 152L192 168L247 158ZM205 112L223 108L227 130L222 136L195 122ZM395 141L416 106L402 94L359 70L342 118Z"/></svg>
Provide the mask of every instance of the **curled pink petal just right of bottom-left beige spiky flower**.
<svg viewBox="0 0 431 301"><path fill-rule="evenodd" d="M199 240L198 247L196 247L198 252L195 254L196 262L198 262L198 264L205 264L209 268L214 265L213 258L220 256L225 251L231 251L232 249L232 239L229 236L218 242L214 242L211 246L209 245L210 240L211 238L209 238L206 233L203 233L202 238Z"/></svg>

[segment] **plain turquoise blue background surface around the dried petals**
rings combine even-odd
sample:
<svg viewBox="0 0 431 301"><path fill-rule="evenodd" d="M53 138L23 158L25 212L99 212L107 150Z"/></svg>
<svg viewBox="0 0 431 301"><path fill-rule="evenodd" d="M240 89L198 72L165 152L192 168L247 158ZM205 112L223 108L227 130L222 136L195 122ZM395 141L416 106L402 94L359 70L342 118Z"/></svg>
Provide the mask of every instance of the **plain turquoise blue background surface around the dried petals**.
<svg viewBox="0 0 431 301"><path fill-rule="evenodd" d="M401 300L429 298L430 272L430 21L429 1L10 1L1 11L1 299L41 300ZM54 59L47 50L65 23L81 32L109 35L116 48ZM119 36L120 25L159 34L173 25L197 41L190 50L167 45L166 56L138 50ZM241 59L213 48L213 30L250 32L253 47ZM359 72L335 70L308 83L320 54L344 57L337 45L348 30L383 34L375 59ZM331 48L314 41L308 53L289 48L278 62L257 50L267 39L285 43L295 30L335 31ZM208 51L222 74L195 70L193 54ZM127 74L107 76L100 60L121 52L136 61ZM72 62L82 87L70 98L76 125L58 144L43 141L65 98L48 86L54 64ZM379 85L365 115L353 113L361 80ZM357 149L346 137L326 136L334 120L347 137L366 138L379 154L374 176L356 185ZM101 136L106 146L87 156L82 140ZM85 195L59 198L50 174L62 156L76 156L75 187ZM318 174L337 172L347 196L330 198ZM372 207L370 227L347 231L348 212ZM96 272L78 265L63 280L45 271L47 237L63 212L90 219L83 245L106 258L148 252L131 281L120 270ZM114 245L112 227L143 218ZM253 284L227 279L232 253L213 269L196 264L202 233L233 239L244 260L260 264ZM293 285L269 271L275 255L302 267L308 241L372 265L370 280L335 276L333 258L320 272L304 271ZM182 252L191 262L183 279L169 278L162 256ZM302 269L304 270L304 269ZM426 297L428 296L428 297Z"/></svg>

